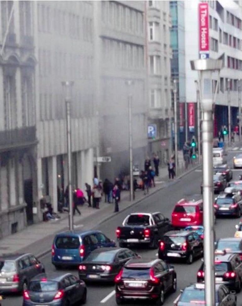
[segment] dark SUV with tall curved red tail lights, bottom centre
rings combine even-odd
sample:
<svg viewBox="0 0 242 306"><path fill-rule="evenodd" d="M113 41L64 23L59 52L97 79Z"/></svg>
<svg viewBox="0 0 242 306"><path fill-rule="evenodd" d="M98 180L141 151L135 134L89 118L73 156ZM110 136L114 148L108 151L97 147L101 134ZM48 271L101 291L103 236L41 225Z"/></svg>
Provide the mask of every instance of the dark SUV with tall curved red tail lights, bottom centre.
<svg viewBox="0 0 242 306"><path fill-rule="evenodd" d="M147 300L163 305L164 294L176 291L176 272L163 260L129 260L115 277L116 303Z"/></svg>

